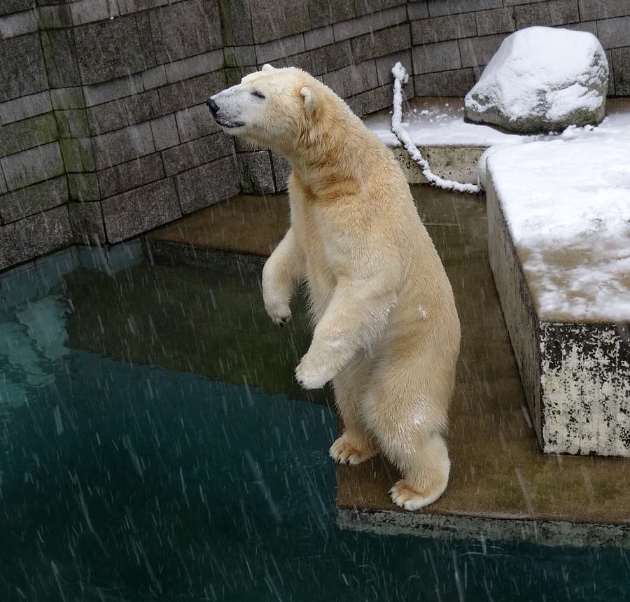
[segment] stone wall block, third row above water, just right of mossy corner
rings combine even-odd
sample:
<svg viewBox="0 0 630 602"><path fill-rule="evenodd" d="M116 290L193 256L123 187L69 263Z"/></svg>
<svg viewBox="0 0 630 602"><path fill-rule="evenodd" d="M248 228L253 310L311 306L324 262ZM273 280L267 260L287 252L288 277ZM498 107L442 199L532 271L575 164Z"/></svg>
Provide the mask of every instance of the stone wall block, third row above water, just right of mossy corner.
<svg viewBox="0 0 630 602"><path fill-rule="evenodd" d="M106 169L155 152L151 124L130 125L123 130L92 138L97 169Z"/></svg>

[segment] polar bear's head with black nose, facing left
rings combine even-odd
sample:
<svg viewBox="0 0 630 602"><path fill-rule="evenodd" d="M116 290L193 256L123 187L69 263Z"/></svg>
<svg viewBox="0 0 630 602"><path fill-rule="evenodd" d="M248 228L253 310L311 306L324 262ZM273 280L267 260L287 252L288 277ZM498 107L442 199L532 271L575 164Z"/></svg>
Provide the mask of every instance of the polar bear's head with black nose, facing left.
<svg viewBox="0 0 630 602"><path fill-rule="evenodd" d="M302 69L274 69L266 64L238 85L214 94L206 104L227 134L290 154L297 141L315 136L326 99L335 103L330 94L335 97Z"/></svg>

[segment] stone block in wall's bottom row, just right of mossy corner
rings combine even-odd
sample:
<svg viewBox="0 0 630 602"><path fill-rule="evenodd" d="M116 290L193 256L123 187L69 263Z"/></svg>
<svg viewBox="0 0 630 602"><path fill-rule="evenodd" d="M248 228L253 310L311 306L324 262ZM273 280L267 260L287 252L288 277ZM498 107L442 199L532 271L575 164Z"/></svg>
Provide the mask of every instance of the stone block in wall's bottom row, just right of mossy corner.
<svg viewBox="0 0 630 602"><path fill-rule="evenodd" d="M172 179L109 197L102 202L107 241L115 243L181 217Z"/></svg>

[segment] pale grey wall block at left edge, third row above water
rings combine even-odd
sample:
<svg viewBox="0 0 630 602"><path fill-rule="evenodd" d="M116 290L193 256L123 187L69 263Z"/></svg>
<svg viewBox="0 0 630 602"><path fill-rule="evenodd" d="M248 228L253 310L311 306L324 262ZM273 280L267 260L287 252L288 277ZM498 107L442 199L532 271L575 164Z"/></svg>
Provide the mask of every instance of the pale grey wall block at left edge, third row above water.
<svg viewBox="0 0 630 602"><path fill-rule="evenodd" d="M59 144L51 142L0 159L9 190L50 180L64 173Z"/></svg>

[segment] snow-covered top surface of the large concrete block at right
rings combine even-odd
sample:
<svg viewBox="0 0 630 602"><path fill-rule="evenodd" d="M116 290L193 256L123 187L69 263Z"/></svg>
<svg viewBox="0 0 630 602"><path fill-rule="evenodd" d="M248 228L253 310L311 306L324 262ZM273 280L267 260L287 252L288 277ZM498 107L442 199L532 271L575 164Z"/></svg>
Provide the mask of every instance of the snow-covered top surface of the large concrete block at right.
<svg viewBox="0 0 630 602"><path fill-rule="evenodd" d="M542 321L630 317L630 129L597 130L487 160Z"/></svg>

